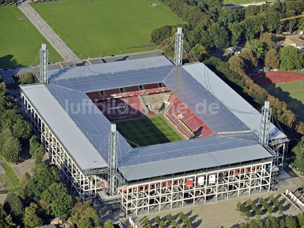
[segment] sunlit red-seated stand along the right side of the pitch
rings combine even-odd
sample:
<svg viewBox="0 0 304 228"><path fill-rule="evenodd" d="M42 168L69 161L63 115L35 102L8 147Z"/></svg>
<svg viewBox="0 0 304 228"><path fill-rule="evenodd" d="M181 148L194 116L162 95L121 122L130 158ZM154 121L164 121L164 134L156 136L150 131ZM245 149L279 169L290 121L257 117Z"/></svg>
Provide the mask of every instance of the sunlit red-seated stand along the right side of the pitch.
<svg viewBox="0 0 304 228"><path fill-rule="evenodd" d="M202 138L215 135L188 107L174 94L168 99L171 102L166 116L188 138Z"/></svg>

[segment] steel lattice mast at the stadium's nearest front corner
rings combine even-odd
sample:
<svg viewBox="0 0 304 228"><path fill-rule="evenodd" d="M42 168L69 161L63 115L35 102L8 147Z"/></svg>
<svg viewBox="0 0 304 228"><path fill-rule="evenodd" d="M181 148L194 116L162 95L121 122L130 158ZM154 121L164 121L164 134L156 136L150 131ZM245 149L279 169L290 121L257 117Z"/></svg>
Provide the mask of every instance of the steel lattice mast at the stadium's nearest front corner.
<svg viewBox="0 0 304 228"><path fill-rule="evenodd" d="M118 131L116 130L116 124L111 124L111 130L109 130L109 156L108 165L110 172L108 174L110 195L117 193L117 145L118 145Z"/></svg>

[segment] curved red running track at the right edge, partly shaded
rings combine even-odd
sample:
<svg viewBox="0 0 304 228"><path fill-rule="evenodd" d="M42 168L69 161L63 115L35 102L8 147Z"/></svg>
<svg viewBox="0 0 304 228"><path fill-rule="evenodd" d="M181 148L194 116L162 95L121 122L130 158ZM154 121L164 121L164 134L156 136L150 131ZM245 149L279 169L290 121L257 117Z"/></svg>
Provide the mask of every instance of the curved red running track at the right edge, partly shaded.
<svg viewBox="0 0 304 228"><path fill-rule="evenodd" d="M304 74L289 71L267 71L251 75L250 78L258 85L269 85L283 81L304 81Z"/></svg>

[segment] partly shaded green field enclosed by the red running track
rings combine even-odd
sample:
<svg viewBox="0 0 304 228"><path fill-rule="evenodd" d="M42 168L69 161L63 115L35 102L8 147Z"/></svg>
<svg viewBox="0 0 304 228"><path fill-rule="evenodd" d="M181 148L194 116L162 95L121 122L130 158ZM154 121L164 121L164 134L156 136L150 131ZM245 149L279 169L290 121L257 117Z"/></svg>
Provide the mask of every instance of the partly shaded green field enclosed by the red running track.
<svg viewBox="0 0 304 228"><path fill-rule="evenodd" d="M285 82L285 84L265 85L269 93L285 101L288 107L304 120L304 84L302 81Z"/></svg>

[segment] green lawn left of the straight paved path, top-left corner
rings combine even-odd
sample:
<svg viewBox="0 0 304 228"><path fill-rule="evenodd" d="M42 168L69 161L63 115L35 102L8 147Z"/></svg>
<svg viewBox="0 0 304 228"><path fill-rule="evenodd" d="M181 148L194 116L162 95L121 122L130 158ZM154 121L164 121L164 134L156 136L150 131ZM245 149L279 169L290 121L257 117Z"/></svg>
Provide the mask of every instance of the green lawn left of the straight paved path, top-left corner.
<svg viewBox="0 0 304 228"><path fill-rule="evenodd" d="M25 19L19 20L19 16ZM40 44L46 43L50 57L60 58L35 26L16 6L0 7L0 68L29 66L36 58Z"/></svg>

